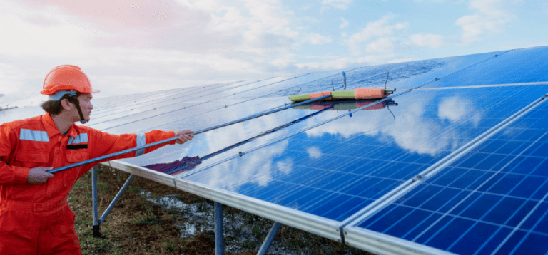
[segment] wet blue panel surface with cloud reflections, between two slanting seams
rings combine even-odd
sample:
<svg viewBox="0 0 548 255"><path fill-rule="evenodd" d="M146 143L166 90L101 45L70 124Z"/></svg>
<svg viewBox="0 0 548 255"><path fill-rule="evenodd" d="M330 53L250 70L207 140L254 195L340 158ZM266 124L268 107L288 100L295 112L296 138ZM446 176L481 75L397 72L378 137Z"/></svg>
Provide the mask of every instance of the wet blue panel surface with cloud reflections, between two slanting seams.
<svg viewBox="0 0 548 255"><path fill-rule="evenodd" d="M342 221L544 95L546 88L407 93L393 98L398 103L390 107L394 116L388 108L360 111L185 179Z"/></svg>

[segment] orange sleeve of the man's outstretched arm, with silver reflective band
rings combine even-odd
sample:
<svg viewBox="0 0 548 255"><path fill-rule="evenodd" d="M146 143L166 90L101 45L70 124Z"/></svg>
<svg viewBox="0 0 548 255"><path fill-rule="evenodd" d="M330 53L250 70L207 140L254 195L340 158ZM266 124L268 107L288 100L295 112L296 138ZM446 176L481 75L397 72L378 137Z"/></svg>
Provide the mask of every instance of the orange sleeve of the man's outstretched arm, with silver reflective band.
<svg viewBox="0 0 548 255"><path fill-rule="evenodd" d="M124 134L124 135L111 135L107 132L101 132L98 130L95 130L96 133L92 135L92 142L89 143L90 149L90 158L96 158L101 157L103 155L108 155L114 152L119 152L122 150L128 150L140 145L149 144L152 142L158 142L161 140L166 140L168 138L174 137L175 132L173 131L160 131L160 130L153 130L151 132L145 133L145 135L136 135L136 134ZM129 152L123 155L119 155L117 157L111 157L107 160L103 161L109 161L109 160L116 160L126 157L135 157L138 155L141 155L144 153L151 152L153 150L158 149L159 147L162 147L163 145L173 145L175 144L175 141L166 142L162 145L156 145L153 147L148 147L144 151L138 150L136 152Z"/></svg>

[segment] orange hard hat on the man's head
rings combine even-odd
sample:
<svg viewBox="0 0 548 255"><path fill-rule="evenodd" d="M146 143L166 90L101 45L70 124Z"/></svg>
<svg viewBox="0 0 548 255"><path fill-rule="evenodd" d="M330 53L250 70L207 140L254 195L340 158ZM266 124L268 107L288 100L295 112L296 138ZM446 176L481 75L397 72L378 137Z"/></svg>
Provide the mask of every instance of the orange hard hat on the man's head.
<svg viewBox="0 0 548 255"><path fill-rule="evenodd" d="M76 90L79 93L98 93L91 88L88 76L78 66L63 65L51 69L44 79L42 95L54 95L59 90Z"/></svg>

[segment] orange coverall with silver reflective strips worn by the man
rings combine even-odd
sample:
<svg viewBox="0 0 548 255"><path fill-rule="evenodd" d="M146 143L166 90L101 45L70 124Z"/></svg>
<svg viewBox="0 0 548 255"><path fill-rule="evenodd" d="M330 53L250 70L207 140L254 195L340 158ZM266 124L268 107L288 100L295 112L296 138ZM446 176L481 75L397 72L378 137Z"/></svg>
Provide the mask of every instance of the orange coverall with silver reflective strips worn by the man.
<svg viewBox="0 0 548 255"><path fill-rule="evenodd" d="M0 254L81 254L67 194L98 162L56 172L42 184L26 183L31 168L55 169L174 136L158 130L111 135L76 124L62 135L49 113L0 125Z"/></svg>

